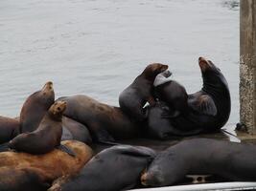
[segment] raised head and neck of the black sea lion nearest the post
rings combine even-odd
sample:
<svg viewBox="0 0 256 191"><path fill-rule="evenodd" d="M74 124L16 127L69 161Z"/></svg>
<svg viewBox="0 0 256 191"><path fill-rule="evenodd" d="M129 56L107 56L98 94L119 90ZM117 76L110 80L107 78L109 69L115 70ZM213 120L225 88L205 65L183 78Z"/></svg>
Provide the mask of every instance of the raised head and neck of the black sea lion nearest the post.
<svg viewBox="0 0 256 191"><path fill-rule="evenodd" d="M211 60L207 60L204 57L198 58L198 64L201 70L204 86L218 88L227 88L227 82L221 74L221 70L215 66Z"/></svg>

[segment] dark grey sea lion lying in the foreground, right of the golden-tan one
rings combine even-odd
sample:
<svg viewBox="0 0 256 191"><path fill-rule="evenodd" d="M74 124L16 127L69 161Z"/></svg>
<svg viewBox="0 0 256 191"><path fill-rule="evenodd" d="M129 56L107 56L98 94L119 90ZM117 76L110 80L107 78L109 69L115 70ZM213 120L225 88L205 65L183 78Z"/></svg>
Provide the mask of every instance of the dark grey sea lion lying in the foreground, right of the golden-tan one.
<svg viewBox="0 0 256 191"><path fill-rule="evenodd" d="M113 146L86 163L79 175L54 184L49 191L127 190L138 185L142 171L154 157L154 151L147 147Z"/></svg>

